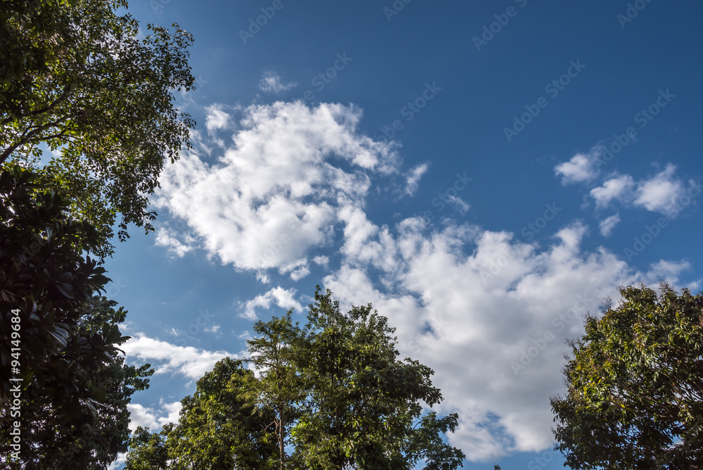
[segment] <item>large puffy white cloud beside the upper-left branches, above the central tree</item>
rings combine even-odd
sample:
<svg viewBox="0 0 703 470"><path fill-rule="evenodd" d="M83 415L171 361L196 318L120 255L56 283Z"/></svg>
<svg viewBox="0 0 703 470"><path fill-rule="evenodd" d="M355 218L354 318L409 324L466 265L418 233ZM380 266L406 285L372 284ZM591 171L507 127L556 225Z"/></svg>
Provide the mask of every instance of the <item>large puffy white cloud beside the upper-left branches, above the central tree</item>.
<svg viewBox="0 0 703 470"><path fill-rule="evenodd" d="M337 208L362 207L370 175L398 172L394 147L359 134L360 119L361 110L338 104L246 108L216 163L194 151L162 173L153 203L190 233L167 231L159 243L179 254L188 237L201 239L224 264L300 279L309 250L330 240Z"/></svg>

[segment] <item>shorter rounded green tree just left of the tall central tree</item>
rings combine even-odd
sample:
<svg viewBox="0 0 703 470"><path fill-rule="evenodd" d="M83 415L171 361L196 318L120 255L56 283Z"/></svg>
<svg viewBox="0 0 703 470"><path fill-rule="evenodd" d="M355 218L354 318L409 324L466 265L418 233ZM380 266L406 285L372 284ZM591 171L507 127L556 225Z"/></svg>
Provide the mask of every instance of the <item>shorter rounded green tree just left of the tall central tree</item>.
<svg viewBox="0 0 703 470"><path fill-rule="evenodd" d="M138 428L129 444L127 470L264 470L276 455L261 414L240 399L243 381L253 376L242 361L217 362L198 380L193 395L181 400L179 421L150 434Z"/></svg>

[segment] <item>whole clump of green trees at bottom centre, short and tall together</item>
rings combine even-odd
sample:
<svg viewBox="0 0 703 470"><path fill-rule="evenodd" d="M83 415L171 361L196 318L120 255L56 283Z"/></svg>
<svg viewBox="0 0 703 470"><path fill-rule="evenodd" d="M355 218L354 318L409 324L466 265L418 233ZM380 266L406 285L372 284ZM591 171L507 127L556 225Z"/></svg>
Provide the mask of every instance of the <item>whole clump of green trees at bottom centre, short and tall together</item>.
<svg viewBox="0 0 703 470"><path fill-rule="evenodd" d="M157 461L172 465L167 468L224 469L244 455L241 462L249 463L236 468L462 466L463 452L442 439L458 415L423 412L423 402L441 401L432 369L398 360L394 329L371 305L345 314L331 296L318 287L304 327L293 322L292 310L257 322L258 336L247 341L256 374L238 361L219 362L195 395L181 401L178 424L135 434L127 468Z"/></svg>

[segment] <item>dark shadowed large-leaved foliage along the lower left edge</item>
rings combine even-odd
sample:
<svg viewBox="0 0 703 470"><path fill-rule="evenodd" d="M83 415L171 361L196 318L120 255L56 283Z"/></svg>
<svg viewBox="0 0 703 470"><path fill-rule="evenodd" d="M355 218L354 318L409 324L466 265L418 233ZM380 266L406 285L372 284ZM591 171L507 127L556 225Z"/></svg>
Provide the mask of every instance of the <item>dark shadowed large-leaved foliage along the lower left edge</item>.
<svg viewBox="0 0 703 470"><path fill-rule="evenodd" d="M0 424L20 424L23 469L105 469L126 450L127 403L149 366L125 365L117 349L126 312L99 296L109 279L85 253L96 231L35 178L0 172ZM11 438L0 437L0 462L14 460Z"/></svg>

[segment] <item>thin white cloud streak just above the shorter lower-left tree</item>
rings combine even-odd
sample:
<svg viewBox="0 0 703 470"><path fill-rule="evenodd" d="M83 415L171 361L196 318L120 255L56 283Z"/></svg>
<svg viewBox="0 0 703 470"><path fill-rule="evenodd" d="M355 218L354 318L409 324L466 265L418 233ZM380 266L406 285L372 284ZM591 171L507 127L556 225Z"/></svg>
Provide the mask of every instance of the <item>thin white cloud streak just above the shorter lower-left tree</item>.
<svg viewBox="0 0 703 470"><path fill-rule="evenodd" d="M166 341L148 338L142 333L121 346L128 360L138 359L154 366L155 374L181 374L197 380L224 357L239 356L226 351L207 351L192 346L176 346Z"/></svg>

